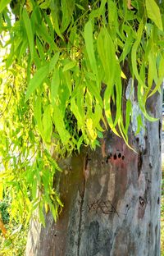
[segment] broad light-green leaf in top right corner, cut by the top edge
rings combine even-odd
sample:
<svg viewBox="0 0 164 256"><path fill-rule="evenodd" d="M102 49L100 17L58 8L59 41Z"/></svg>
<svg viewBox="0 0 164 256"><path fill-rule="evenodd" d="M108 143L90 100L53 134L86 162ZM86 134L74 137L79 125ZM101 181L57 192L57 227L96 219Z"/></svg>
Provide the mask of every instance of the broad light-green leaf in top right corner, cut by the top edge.
<svg viewBox="0 0 164 256"><path fill-rule="evenodd" d="M163 30L162 16L157 2L154 0L146 0L146 10L148 18L150 18L158 27L159 30Z"/></svg>

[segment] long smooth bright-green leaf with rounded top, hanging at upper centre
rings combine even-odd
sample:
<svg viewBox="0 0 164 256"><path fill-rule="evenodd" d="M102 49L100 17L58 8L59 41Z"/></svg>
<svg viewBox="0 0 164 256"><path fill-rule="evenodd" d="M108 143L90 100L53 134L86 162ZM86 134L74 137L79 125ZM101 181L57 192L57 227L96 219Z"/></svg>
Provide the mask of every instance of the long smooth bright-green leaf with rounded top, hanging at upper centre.
<svg viewBox="0 0 164 256"><path fill-rule="evenodd" d="M88 21L84 26L84 42L86 46L86 50L89 56L90 66L93 70L94 75L98 74L96 58L94 55L93 48L93 27L91 21Z"/></svg>

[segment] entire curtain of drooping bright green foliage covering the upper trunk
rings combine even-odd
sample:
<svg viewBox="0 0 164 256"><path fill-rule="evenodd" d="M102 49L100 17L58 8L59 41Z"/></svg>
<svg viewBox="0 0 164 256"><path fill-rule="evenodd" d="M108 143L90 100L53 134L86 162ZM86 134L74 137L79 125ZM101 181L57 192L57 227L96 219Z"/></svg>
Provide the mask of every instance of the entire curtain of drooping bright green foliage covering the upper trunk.
<svg viewBox="0 0 164 256"><path fill-rule="evenodd" d="M56 219L59 158L95 149L109 128L129 144L134 118L136 132L142 115L156 120L146 103L164 76L163 9L155 0L1 0L0 197L11 194L13 217L39 208L44 223L44 207Z"/></svg>

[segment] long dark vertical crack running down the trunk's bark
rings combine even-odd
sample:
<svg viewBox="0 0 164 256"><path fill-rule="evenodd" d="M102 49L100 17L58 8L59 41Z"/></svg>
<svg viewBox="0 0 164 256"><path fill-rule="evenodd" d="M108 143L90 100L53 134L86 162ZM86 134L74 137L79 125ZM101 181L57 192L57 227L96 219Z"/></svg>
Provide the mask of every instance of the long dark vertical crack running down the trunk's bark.
<svg viewBox="0 0 164 256"><path fill-rule="evenodd" d="M83 169L83 187L82 191L80 193L80 222L79 222L79 230L78 230L78 245L77 245L77 256L80 256L80 240L81 240L81 225L82 225L82 217L83 217L83 205L84 205L84 192L85 192L85 185L86 181L89 178L89 155L87 154L86 157L84 158L84 169Z"/></svg>

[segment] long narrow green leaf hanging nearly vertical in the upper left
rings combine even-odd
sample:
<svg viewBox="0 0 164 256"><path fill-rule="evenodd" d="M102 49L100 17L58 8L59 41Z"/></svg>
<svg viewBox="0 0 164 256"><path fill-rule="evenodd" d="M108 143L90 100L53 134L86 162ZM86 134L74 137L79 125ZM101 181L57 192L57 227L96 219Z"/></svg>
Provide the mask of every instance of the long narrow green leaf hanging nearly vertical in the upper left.
<svg viewBox="0 0 164 256"><path fill-rule="evenodd" d="M33 35L33 30L31 27L30 17L28 15L28 12L25 9L23 10L22 16L23 16L23 21L25 24L25 30L27 33L27 37L29 40L31 60L33 60L34 59L34 35Z"/></svg>

